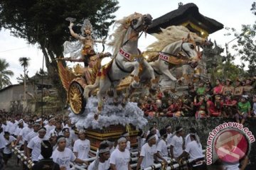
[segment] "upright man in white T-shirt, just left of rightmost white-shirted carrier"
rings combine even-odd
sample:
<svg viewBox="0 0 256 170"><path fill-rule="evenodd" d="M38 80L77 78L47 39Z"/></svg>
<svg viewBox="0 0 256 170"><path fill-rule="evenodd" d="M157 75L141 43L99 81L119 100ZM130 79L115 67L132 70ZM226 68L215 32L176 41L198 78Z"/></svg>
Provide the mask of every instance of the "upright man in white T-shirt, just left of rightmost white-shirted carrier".
<svg viewBox="0 0 256 170"><path fill-rule="evenodd" d="M181 126L176 127L176 135L171 140L171 147L170 147L170 153L171 153L171 159L176 159L178 156L180 156L184 149L183 144L183 128Z"/></svg>

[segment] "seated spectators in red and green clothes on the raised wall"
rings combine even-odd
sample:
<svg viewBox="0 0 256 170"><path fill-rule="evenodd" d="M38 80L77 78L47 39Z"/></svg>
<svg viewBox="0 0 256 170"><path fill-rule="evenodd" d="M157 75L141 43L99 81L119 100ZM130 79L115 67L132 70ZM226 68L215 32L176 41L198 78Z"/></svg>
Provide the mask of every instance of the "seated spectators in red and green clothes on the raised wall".
<svg viewBox="0 0 256 170"><path fill-rule="evenodd" d="M245 123L247 118L256 117L256 77L232 82L230 79L200 81L198 86L188 84L188 94L174 96L170 91L157 92L137 101L146 116L194 116L196 118L234 118Z"/></svg>

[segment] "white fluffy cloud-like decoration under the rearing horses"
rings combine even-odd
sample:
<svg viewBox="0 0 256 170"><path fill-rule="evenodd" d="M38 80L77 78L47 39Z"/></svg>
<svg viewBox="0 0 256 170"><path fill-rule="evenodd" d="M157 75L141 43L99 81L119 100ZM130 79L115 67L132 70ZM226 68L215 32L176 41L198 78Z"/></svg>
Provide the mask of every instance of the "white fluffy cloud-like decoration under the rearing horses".
<svg viewBox="0 0 256 170"><path fill-rule="evenodd" d="M121 100L122 98L119 98L118 104L114 104L113 98L107 98L98 120L95 120L94 115L97 113L97 98L90 97L88 98L84 113L76 115L70 110L70 119L72 123L75 123L78 129L102 129L110 125L125 126L129 123L137 128L142 128L146 125L147 120L143 117L144 113L142 109L137 106L137 103L128 102L126 106L123 107L120 104Z"/></svg>

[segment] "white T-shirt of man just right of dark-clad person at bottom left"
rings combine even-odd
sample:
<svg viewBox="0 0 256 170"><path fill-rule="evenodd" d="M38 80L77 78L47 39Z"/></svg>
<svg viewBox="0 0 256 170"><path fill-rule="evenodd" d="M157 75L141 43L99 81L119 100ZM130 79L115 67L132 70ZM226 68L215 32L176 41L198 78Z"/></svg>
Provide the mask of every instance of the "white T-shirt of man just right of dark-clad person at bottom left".
<svg viewBox="0 0 256 170"><path fill-rule="evenodd" d="M63 152L58 151L58 148L53 151L53 162L60 165L60 167L65 166L66 170L70 170L70 162L74 162L76 157L73 152L66 148Z"/></svg>

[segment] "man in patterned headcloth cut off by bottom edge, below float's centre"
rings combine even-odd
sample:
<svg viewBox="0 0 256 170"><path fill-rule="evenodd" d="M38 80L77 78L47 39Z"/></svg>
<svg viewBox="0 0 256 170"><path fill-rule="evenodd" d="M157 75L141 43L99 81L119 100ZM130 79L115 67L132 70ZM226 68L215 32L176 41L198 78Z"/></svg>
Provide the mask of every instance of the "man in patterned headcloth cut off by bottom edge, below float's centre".
<svg viewBox="0 0 256 170"><path fill-rule="evenodd" d="M108 170L110 169L110 147L105 142L102 143L98 149L98 155L95 161L93 161L87 170Z"/></svg>

